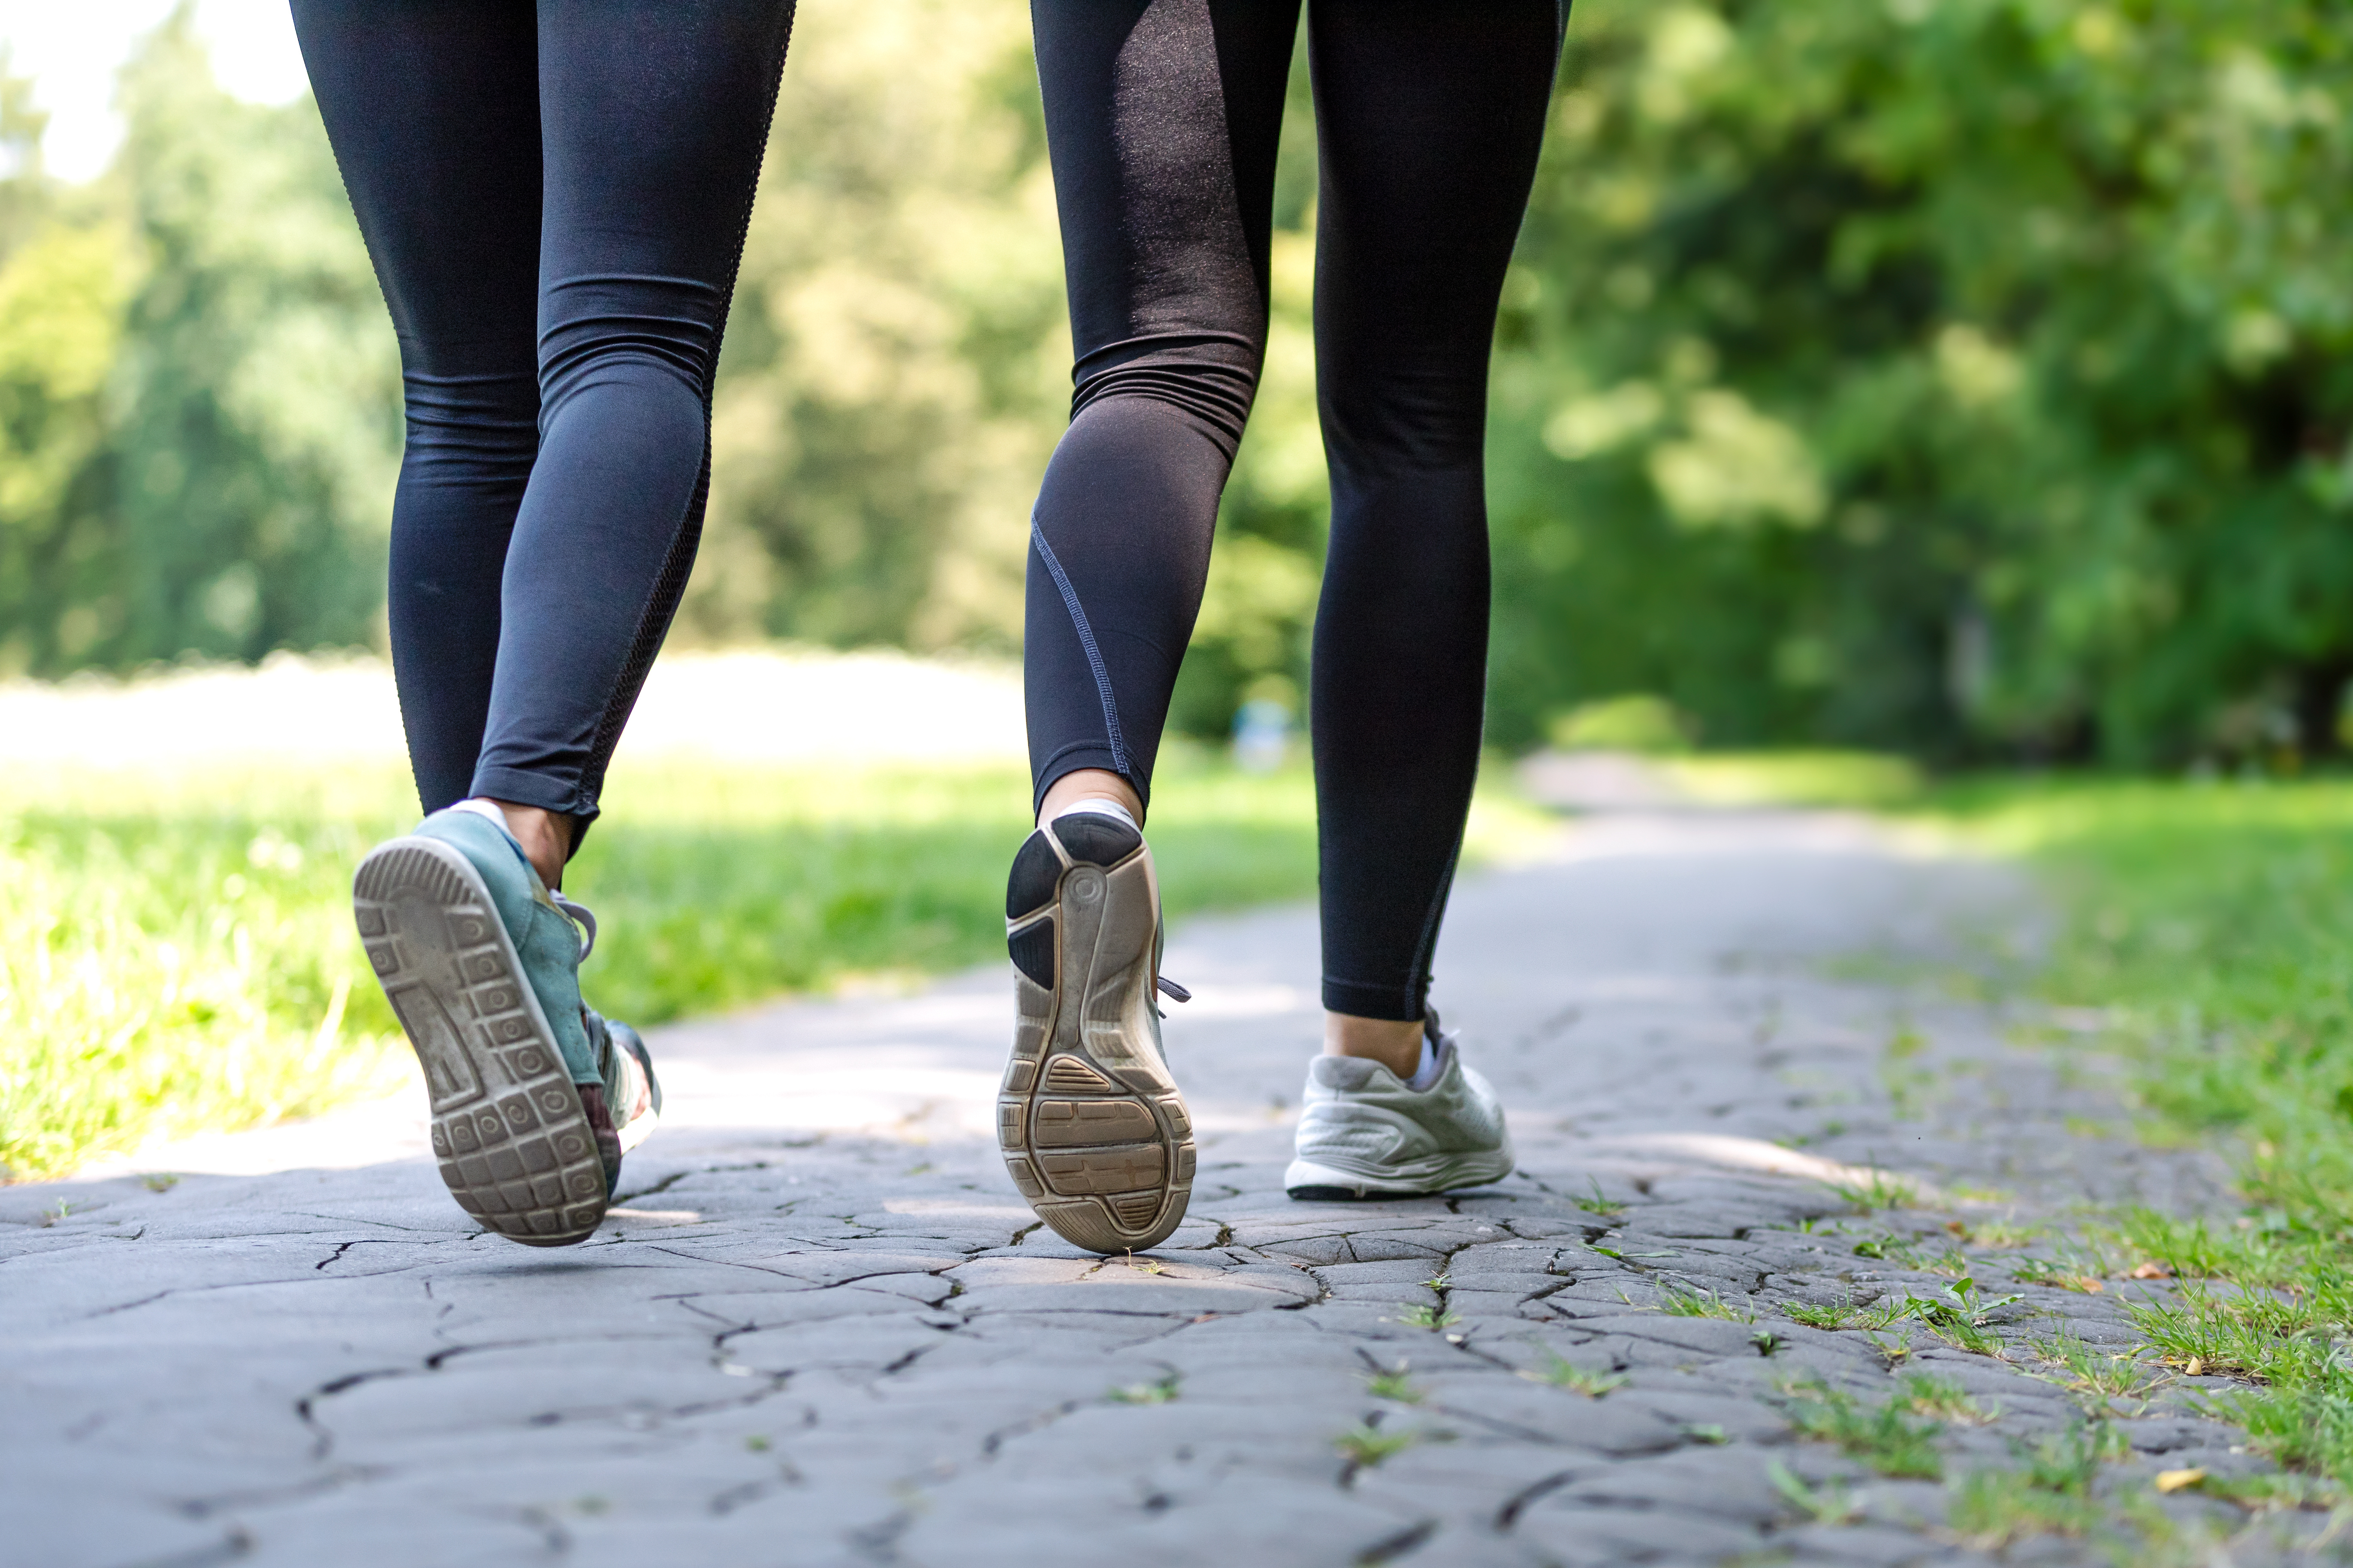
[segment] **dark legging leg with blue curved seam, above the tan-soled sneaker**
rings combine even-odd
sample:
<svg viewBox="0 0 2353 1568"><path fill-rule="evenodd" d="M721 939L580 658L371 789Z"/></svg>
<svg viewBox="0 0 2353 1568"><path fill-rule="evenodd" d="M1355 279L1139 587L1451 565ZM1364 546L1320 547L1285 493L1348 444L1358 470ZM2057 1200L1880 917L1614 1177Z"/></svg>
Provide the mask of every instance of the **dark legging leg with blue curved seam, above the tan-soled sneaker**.
<svg viewBox="0 0 2353 1568"><path fill-rule="evenodd" d="M1068 261L1071 428L1033 512L1035 799L1151 771L1257 393L1297 0L1035 0Z"/></svg>

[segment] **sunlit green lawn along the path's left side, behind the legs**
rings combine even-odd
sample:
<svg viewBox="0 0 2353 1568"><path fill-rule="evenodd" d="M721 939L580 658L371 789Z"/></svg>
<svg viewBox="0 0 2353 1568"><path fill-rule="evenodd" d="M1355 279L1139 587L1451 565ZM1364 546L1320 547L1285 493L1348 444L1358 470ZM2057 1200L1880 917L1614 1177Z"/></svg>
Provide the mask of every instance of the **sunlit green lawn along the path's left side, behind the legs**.
<svg viewBox="0 0 2353 1568"><path fill-rule="evenodd" d="M605 802L567 891L602 922L584 985L616 1018L1002 959L1019 769L624 762ZM367 846L414 820L398 766L0 778L0 1178L407 1081L348 889ZM1485 792L1473 858L1525 820ZM1172 748L1151 830L1169 914L1315 891L1306 769L1249 776Z"/></svg>

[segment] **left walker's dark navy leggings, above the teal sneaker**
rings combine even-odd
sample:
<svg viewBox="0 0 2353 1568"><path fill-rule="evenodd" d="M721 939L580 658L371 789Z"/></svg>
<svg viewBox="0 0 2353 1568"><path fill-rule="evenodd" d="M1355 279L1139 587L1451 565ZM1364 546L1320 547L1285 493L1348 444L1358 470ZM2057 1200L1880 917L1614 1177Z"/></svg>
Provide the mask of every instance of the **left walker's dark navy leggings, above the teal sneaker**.
<svg viewBox="0 0 2353 1568"><path fill-rule="evenodd" d="M793 0L294 0L400 334L388 614L426 811L598 813L701 536L791 24Z"/></svg>

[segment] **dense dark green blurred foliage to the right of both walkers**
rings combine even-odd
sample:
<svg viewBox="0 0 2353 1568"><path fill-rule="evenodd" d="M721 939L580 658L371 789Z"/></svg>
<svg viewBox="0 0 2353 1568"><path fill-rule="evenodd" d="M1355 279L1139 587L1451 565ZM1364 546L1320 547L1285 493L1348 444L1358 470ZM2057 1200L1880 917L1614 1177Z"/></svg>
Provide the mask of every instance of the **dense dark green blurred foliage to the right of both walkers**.
<svg viewBox="0 0 2353 1568"><path fill-rule="evenodd" d="M1494 722L2252 752L2353 670L2313 0L1579 7L1497 369Z"/></svg>

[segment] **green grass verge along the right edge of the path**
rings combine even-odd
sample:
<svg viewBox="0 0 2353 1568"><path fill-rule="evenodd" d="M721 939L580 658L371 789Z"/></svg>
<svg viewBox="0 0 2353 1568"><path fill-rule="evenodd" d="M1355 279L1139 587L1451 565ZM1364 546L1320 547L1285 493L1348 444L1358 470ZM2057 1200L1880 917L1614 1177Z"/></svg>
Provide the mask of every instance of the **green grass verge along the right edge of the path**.
<svg viewBox="0 0 2353 1568"><path fill-rule="evenodd" d="M2353 785L1972 780L1934 809L2047 872L2066 926L2035 983L2132 1060L2141 1131L2224 1147L2247 1199L2127 1211L2089 1237L2104 1267L2038 1284L2177 1281L2129 1307L2155 1356L2247 1380L2212 1408L2353 1486Z"/></svg>

